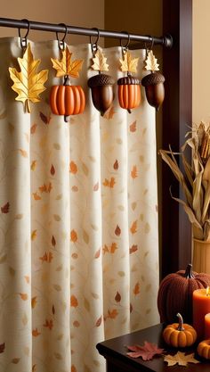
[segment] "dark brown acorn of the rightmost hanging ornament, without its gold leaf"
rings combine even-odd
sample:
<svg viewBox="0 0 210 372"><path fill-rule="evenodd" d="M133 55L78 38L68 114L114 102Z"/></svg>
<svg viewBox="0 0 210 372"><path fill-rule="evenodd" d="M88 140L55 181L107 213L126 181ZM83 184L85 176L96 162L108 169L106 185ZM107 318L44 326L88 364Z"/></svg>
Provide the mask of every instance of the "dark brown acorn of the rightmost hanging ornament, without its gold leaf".
<svg viewBox="0 0 210 372"><path fill-rule="evenodd" d="M152 72L141 80L142 86L145 87L148 103L157 111L165 97L164 82L165 78L160 72Z"/></svg>

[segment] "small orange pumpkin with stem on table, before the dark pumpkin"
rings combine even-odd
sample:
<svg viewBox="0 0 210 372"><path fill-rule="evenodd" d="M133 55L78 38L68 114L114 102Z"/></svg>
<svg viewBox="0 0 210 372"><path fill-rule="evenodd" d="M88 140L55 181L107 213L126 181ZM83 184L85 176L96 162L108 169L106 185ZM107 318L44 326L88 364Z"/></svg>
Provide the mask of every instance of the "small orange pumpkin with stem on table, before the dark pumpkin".
<svg viewBox="0 0 210 372"><path fill-rule="evenodd" d="M179 323L173 323L164 329L164 341L174 347L187 347L195 343L197 339L196 330L189 324L183 324L182 315L177 314Z"/></svg>

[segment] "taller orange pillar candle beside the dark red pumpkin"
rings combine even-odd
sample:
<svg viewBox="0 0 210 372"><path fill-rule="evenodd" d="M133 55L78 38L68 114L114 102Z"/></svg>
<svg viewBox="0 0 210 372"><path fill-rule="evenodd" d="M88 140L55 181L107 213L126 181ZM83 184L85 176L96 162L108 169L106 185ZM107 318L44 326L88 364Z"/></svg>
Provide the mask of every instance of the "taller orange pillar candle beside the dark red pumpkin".
<svg viewBox="0 0 210 372"><path fill-rule="evenodd" d="M210 288L197 289L192 293L193 327L198 334L198 340L204 339L205 316L210 312Z"/></svg>

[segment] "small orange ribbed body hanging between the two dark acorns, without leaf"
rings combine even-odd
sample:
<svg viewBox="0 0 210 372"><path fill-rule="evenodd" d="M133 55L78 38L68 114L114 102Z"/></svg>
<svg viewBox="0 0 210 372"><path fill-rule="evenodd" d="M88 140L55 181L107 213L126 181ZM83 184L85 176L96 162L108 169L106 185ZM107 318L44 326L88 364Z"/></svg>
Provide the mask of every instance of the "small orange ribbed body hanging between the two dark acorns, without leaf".
<svg viewBox="0 0 210 372"><path fill-rule="evenodd" d="M128 75L117 80L118 101L123 109L131 112L131 109L138 107L141 103L140 80Z"/></svg>

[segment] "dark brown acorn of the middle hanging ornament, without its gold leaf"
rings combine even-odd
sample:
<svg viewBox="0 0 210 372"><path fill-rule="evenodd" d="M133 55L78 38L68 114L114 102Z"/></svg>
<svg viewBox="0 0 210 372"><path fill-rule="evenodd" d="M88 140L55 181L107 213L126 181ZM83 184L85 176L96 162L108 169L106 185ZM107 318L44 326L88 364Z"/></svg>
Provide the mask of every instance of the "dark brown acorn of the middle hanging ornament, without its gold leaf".
<svg viewBox="0 0 210 372"><path fill-rule="evenodd" d="M106 74L94 75L88 79L91 88L94 107L101 112L101 116L109 109L114 100L114 79Z"/></svg>

